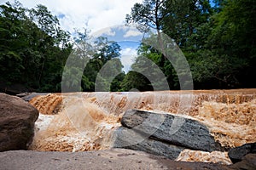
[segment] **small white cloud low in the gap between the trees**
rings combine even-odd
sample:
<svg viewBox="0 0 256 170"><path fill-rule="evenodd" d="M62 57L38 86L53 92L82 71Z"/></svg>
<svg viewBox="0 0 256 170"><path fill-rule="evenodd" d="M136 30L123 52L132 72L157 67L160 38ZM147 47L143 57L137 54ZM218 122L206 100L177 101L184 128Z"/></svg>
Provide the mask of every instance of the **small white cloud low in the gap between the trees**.
<svg viewBox="0 0 256 170"><path fill-rule="evenodd" d="M124 71L128 72L131 70L131 65L137 57L137 49L136 48L125 48L120 51L121 54L121 62L124 65Z"/></svg>

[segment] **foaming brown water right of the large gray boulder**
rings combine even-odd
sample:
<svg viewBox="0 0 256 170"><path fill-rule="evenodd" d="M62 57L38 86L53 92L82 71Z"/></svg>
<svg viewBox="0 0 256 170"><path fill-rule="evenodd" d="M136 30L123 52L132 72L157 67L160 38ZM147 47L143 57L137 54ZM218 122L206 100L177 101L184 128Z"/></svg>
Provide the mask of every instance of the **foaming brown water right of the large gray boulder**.
<svg viewBox="0 0 256 170"><path fill-rule="evenodd" d="M223 146L256 142L256 99L241 104L203 102L195 118L209 125L212 135Z"/></svg>

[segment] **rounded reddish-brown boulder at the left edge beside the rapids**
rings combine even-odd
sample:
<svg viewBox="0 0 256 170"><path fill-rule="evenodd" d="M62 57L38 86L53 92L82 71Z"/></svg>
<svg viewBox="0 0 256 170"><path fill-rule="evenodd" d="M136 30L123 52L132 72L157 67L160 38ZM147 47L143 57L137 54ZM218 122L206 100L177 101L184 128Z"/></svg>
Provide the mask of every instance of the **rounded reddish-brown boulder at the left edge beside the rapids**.
<svg viewBox="0 0 256 170"><path fill-rule="evenodd" d="M26 150L34 133L38 110L23 99L0 94L0 151Z"/></svg>

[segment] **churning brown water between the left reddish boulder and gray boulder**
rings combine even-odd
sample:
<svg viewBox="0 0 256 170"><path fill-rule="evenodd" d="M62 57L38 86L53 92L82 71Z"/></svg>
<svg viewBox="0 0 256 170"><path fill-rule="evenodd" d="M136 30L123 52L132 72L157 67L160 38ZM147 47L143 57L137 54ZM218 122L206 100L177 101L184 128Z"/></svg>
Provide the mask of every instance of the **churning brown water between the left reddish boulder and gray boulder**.
<svg viewBox="0 0 256 170"><path fill-rule="evenodd" d="M40 115L30 150L40 151L84 151L102 150L108 133L119 126L119 117L108 115L97 105L85 102L76 105L78 98L68 98L68 105L53 117ZM42 123L42 119L48 122ZM75 123L75 126L74 124Z"/></svg>

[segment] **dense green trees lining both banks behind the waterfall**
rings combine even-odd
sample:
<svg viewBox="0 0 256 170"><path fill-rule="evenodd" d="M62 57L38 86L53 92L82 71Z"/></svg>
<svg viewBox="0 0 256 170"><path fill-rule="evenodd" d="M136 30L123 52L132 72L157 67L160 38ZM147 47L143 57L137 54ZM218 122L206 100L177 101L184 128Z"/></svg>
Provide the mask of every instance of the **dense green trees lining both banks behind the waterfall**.
<svg viewBox="0 0 256 170"><path fill-rule="evenodd" d="M172 37L189 62L195 88L255 88L255 8L254 0L144 0L131 8L126 22L137 24L143 32L156 29L148 39L156 38L160 48L166 48L162 33ZM20 84L26 90L60 92L62 74L67 75L64 85L70 91L161 89L165 81L154 65L148 68L145 57L164 73L169 88L180 88L173 63L152 46L140 45L131 71L125 74L117 42L106 37L91 42L88 31L76 33L71 37L61 30L57 17L44 5L32 9L19 2L1 5L1 91ZM70 54L79 56L74 63L85 59L86 66L69 67L63 73ZM154 82L150 77L156 77ZM82 89L73 89L75 85Z"/></svg>

